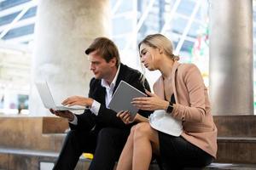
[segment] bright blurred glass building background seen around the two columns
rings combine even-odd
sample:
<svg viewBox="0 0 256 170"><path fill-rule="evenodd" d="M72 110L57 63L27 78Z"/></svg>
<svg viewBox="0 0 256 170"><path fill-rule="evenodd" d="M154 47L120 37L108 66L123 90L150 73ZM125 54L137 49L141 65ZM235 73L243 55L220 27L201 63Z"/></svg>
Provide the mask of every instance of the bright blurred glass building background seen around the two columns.
<svg viewBox="0 0 256 170"><path fill-rule="evenodd" d="M256 6L253 1L253 47ZM29 114L36 0L0 0L0 114ZM207 0L110 0L110 38L121 60L141 70L137 42L152 33L172 39L182 62L195 63L208 86L209 2ZM86 48L86 47L84 47ZM253 52L255 73L255 51ZM143 71L152 85L159 72ZM256 78L254 74L254 113Z"/></svg>

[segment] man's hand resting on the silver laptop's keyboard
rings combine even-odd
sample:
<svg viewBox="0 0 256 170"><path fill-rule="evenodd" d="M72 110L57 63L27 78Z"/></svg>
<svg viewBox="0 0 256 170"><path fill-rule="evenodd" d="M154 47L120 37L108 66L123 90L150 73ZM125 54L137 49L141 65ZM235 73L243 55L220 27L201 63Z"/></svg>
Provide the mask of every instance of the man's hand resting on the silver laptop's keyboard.
<svg viewBox="0 0 256 170"><path fill-rule="evenodd" d="M82 96L71 96L67 99L65 99L61 104L62 105L81 105L81 106L89 106L91 107L93 103L93 99L90 98L84 98Z"/></svg>

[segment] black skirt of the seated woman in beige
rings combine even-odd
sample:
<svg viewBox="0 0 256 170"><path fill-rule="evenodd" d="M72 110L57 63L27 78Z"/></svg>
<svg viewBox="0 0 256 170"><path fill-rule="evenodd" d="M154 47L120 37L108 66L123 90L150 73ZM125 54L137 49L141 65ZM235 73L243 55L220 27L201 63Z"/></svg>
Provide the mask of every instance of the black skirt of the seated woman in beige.
<svg viewBox="0 0 256 170"><path fill-rule="evenodd" d="M159 132L160 157L158 161L164 170L198 167L201 169L212 163L214 157L201 148L190 144L182 136L175 137Z"/></svg>

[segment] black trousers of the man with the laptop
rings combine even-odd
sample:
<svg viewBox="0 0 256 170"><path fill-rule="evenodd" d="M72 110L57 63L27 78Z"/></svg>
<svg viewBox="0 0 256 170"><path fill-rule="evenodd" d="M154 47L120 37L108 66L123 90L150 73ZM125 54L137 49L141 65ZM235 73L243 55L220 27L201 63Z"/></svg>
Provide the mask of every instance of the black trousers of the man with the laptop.
<svg viewBox="0 0 256 170"><path fill-rule="evenodd" d="M83 152L93 153L90 170L112 170L130 130L105 127L98 133L71 130L55 163L54 170L73 170Z"/></svg>

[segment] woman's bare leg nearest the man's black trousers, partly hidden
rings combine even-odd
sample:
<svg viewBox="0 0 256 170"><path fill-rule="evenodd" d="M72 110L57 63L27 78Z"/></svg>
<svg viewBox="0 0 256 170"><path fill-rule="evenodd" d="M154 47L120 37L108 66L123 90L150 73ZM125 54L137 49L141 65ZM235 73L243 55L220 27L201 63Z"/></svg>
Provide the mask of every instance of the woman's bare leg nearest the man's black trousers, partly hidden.
<svg viewBox="0 0 256 170"><path fill-rule="evenodd" d="M119 157L116 170L131 170L133 157L133 136L135 126L131 128L131 133L126 141L125 147Z"/></svg>

